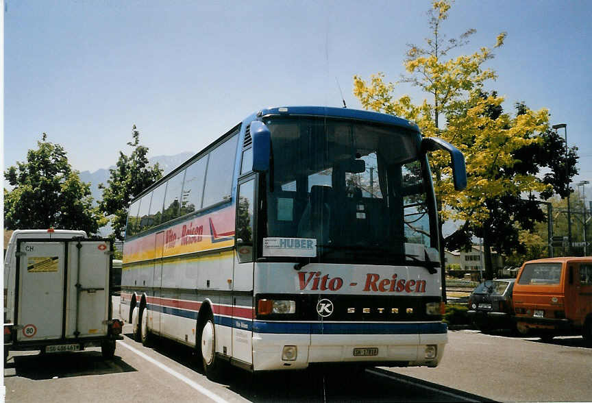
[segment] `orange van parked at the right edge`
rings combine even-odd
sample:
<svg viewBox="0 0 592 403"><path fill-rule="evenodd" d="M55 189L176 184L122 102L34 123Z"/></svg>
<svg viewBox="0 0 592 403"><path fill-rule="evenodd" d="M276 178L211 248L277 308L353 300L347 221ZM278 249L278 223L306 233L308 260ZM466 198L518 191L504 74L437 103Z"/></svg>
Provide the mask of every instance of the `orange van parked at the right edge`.
<svg viewBox="0 0 592 403"><path fill-rule="evenodd" d="M582 334L592 341L592 257L525 262L513 290L516 326L550 340Z"/></svg>

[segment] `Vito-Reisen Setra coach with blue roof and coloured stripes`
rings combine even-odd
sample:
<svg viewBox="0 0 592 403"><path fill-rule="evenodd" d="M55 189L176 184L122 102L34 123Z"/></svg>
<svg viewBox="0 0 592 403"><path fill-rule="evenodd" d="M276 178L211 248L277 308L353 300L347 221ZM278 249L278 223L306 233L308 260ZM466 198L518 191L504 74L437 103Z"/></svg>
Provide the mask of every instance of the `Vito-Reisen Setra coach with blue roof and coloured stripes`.
<svg viewBox="0 0 592 403"><path fill-rule="evenodd" d="M121 313L136 338L251 371L317 363L435 367L447 343L417 125L325 107L260 110L137 195Z"/></svg>

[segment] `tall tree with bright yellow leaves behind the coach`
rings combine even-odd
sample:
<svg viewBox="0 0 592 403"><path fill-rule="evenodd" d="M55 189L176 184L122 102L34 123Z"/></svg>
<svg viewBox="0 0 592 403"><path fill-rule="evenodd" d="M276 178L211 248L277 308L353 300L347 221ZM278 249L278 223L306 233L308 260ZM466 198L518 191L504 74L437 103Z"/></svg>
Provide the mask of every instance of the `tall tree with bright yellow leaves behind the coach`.
<svg viewBox="0 0 592 403"><path fill-rule="evenodd" d="M407 75L402 82L421 88L428 98L418 105L408 95L395 98L395 84L384 82L382 73L373 75L369 82L354 76L354 95L365 108L415 121L424 136L439 136L465 154L467 188L462 193L454 191L448 156L442 152L432 154L436 204L441 225L446 219L478 225L489 218L488 200L541 192L550 186L535 175L502 174L517 162L515 151L540 141L532 133L547 129L548 112L525 110L516 117L500 112L492 119L489 112L501 108L504 101L496 93L484 96L484 84L497 77L484 66L493 58L492 49L481 47L469 55L449 56L453 49L467 45L475 32L469 29L458 39L445 40L441 25L449 8L449 1L432 2L428 12L432 36L425 40L425 47L410 45L404 62ZM505 38L505 33L499 34L493 49L501 47Z"/></svg>

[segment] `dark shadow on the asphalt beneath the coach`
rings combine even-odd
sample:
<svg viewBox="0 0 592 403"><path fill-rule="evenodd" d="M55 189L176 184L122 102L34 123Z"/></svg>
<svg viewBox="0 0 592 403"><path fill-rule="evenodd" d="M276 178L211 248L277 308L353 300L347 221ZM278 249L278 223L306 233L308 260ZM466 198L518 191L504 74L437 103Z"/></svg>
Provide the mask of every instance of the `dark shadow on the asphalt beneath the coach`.
<svg viewBox="0 0 592 403"><path fill-rule="evenodd" d="M192 348L167 339L155 339L150 347L204 376ZM251 402L491 401L380 368L365 371L354 367L312 367L304 371L251 374L227 364L215 382Z"/></svg>

